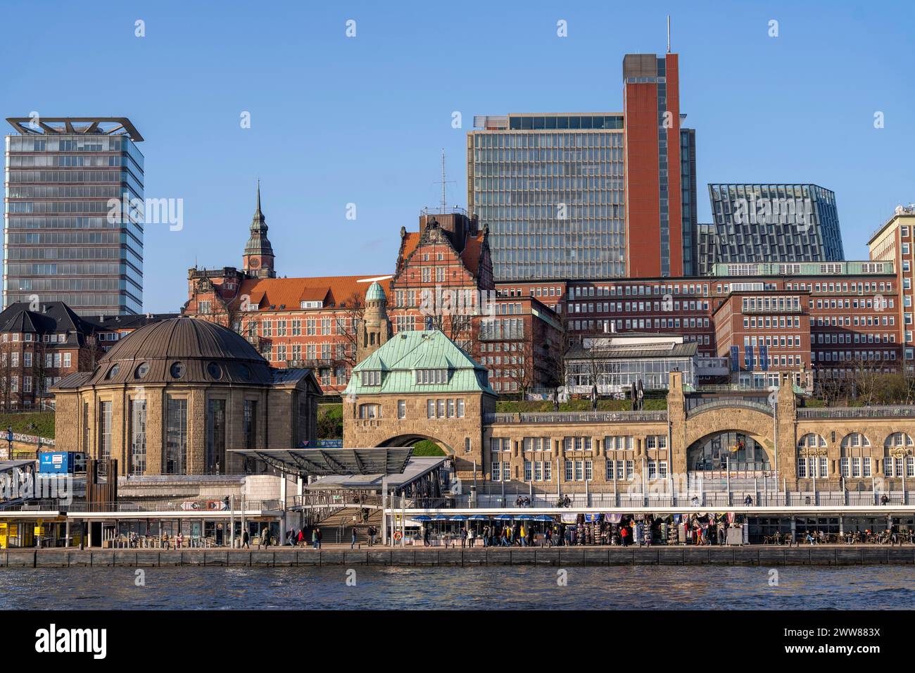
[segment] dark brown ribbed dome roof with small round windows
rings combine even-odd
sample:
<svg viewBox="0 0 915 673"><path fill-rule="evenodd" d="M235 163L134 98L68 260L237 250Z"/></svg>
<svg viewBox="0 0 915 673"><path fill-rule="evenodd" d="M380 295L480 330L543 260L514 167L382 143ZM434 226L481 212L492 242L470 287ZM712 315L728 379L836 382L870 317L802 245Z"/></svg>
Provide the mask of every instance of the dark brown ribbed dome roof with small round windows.
<svg viewBox="0 0 915 673"><path fill-rule="evenodd" d="M270 384L270 365L242 335L209 320L171 318L128 334L86 385Z"/></svg>

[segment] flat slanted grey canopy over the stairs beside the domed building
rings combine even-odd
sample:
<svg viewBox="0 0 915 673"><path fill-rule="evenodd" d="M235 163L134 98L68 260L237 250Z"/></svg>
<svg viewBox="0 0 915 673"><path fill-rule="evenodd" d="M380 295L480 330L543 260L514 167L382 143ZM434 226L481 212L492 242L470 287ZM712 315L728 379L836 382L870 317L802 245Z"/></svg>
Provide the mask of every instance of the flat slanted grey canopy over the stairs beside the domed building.
<svg viewBox="0 0 915 673"><path fill-rule="evenodd" d="M413 455L412 447L373 449L227 449L226 453L264 461L298 476L328 474L400 474Z"/></svg>

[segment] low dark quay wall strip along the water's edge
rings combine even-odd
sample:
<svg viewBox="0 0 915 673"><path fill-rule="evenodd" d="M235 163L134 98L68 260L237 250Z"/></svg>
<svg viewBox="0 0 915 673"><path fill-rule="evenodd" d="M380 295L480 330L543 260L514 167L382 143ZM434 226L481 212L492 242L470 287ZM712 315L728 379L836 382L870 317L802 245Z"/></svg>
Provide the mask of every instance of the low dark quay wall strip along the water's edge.
<svg viewBox="0 0 915 673"><path fill-rule="evenodd" d="M262 549L7 549L4 568L293 567L293 566L855 566L915 565L915 545L777 545L392 548L350 545Z"/></svg>

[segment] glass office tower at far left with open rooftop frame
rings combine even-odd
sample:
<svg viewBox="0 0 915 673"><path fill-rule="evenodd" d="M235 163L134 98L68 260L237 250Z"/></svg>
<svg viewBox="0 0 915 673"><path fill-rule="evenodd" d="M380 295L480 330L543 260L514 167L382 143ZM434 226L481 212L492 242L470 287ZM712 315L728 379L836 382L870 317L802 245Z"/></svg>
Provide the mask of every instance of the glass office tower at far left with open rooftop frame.
<svg viewBox="0 0 915 673"><path fill-rule="evenodd" d="M114 117L9 118L4 308L63 301L81 315L143 310L143 137Z"/></svg>

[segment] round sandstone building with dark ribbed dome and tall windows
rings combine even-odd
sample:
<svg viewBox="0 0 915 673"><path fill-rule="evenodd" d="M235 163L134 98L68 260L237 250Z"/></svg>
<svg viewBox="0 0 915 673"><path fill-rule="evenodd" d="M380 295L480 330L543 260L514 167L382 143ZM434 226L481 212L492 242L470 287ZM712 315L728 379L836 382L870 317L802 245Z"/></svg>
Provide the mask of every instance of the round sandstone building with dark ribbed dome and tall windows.
<svg viewBox="0 0 915 673"><path fill-rule="evenodd" d="M238 333L186 317L140 328L51 392L57 450L117 459L122 474L245 472L226 450L314 440L321 396L310 370L275 369Z"/></svg>

